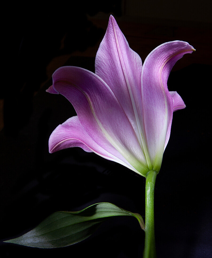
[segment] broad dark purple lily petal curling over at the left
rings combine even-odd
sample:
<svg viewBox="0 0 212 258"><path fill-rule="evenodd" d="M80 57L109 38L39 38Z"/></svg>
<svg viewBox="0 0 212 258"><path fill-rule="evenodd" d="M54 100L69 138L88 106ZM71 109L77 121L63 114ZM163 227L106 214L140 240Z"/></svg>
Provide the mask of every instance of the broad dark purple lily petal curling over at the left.
<svg viewBox="0 0 212 258"><path fill-rule="evenodd" d="M145 175L148 167L135 131L108 85L96 74L72 66L60 67L52 78L52 88L72 103L93 141Z"/></svg>

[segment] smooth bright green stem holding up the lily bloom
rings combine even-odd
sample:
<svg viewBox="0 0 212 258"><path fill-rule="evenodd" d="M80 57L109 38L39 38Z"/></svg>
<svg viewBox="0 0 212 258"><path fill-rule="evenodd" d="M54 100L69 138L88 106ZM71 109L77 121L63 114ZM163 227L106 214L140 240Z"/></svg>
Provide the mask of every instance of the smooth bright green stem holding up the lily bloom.
<svg viewBox="0 0 212 258"><path fill-rule="evenodd" d="M145 190L145 246L143 258L155 258L155 227L154 227L154 189L157 172L150 170L146 178Z"/></svg>

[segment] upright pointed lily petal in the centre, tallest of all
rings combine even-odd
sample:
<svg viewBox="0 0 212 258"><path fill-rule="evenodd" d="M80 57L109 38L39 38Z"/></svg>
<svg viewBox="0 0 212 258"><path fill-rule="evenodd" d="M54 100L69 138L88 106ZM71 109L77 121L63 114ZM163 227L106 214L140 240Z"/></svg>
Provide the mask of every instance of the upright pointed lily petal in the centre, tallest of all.
<svg viewBox="0 0 212 258"><path fill-rule="evenodd" d="M137 136L149 170L152 165L143 138L141 99L142 61L134 52L119 29L116 20L110 15L108 28L100 44L95 59L95 74L110 87Z"/></svg>

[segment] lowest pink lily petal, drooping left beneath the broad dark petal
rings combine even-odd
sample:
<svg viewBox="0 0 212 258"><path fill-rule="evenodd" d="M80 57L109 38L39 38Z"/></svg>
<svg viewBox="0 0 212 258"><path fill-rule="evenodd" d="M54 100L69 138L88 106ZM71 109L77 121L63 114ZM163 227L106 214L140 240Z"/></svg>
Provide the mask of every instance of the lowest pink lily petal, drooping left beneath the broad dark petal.
<svg viewBox="0 0 212 258"><path fill-rule="evenodd" d="M115 161L137 172L120 154L120 158L124 161L113 156L94 142L81 126L77 116L73 116L62 125L58 125L49 138L50 153L71 147L80 147L87 152L95 152L105 159Z"/></svg>

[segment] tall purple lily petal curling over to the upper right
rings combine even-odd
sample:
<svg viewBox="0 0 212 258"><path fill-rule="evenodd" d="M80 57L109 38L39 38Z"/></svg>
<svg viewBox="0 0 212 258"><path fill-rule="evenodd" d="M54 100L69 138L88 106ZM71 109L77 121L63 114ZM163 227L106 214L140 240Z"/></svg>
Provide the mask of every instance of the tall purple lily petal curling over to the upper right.
<svg viewBox="0 0 212 258"><path fill-rule="evenodd" d="M141 72L143 121L153 169L160 170L166 139L169 139L174 101L168 91L169 73L181 57L195 49L187 42L172 41L154 49Z"/></svg>

